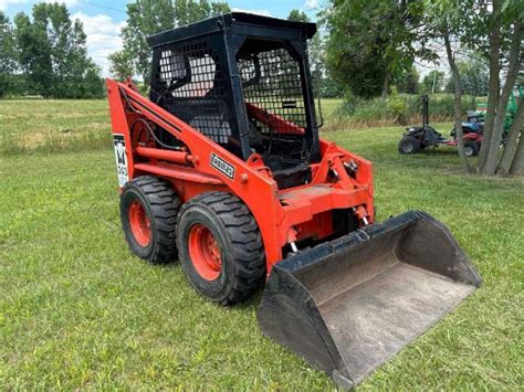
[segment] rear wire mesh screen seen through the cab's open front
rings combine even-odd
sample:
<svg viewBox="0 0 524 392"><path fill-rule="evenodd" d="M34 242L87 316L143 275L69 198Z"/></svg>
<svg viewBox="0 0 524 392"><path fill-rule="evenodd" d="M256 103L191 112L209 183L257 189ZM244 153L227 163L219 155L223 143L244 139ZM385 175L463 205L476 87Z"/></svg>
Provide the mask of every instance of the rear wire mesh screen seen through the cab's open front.
<svg viewBox="0 0 524 392"><path fill-rule="evenodd" d="M238 68L250 108L262 109L269 120L253 118L262 133L296 134L307 126L300 63L285 49L240 57ZM279 124L279 129L270 129Z"/></svg>

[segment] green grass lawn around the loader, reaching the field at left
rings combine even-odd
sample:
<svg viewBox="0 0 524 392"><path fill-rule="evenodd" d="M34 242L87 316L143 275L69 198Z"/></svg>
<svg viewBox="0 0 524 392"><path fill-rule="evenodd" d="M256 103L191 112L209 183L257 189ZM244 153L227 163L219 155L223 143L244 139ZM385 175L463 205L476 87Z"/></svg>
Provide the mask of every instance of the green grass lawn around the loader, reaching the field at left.
<svg viewBox="0 0 524 392"><path fill-rule="evenodd" d="M129 253L106 110L104 102L0 102L4 141L90 130L105 140L57 151L33 140L0 152L0 390L333 390L324 373L261 336L261 293L216 306L179 265ZM373 160L379 220L433 214L484 284L358 388L522 390L524 180L464 176L451 149L400 156L400 134L324 136Z"/></svg>

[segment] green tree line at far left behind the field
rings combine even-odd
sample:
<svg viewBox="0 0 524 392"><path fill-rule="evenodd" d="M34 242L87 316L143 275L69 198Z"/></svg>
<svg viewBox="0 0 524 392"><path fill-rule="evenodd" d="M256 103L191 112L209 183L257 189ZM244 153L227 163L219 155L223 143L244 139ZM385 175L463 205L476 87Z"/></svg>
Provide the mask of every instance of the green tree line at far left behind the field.
<svg viewBox="0 0 524 392"><path fill-rule="evenodd" d="M0 97L96 98L101 70L87 55L80 20L65 4L41 2L11 21L0 11Z"/></svg>

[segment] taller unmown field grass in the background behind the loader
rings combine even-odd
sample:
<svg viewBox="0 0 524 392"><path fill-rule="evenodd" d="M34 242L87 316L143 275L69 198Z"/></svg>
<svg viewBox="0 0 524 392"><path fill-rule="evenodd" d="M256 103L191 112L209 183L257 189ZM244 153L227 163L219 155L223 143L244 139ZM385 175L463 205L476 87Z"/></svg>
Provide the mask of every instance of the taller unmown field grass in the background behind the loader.
<svg viewBox="0 0 524 392"><path fill-rule="evenodd" d="M392 118L381 102L361 106L367 112L350 116L344 109L343 99L323 98L323 129L332 131L391 124ZM436 116L433 121L437 119L443 120L446 116ZM409 123L420 123L420 115L411 116ZM3 156L99 150L111 142L106 100L3 99L0 100L0 155Z"/></svg>

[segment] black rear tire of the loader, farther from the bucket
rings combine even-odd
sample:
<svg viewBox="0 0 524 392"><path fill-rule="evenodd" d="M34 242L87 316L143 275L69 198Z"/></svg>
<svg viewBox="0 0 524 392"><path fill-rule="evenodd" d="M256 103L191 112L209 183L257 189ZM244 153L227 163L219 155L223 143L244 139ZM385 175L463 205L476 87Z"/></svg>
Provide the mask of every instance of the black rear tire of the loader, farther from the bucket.
<svg viewBox="0 0 524 392"><path fill-rule="evenodd" d="M130 223L132 205L142 205L149 221L149 241L140 243ZM180 199L172 186L158 177L137 177L129 181L120 197L120 220L129 250L156 264L177 258L176 223Z"/></svg>

